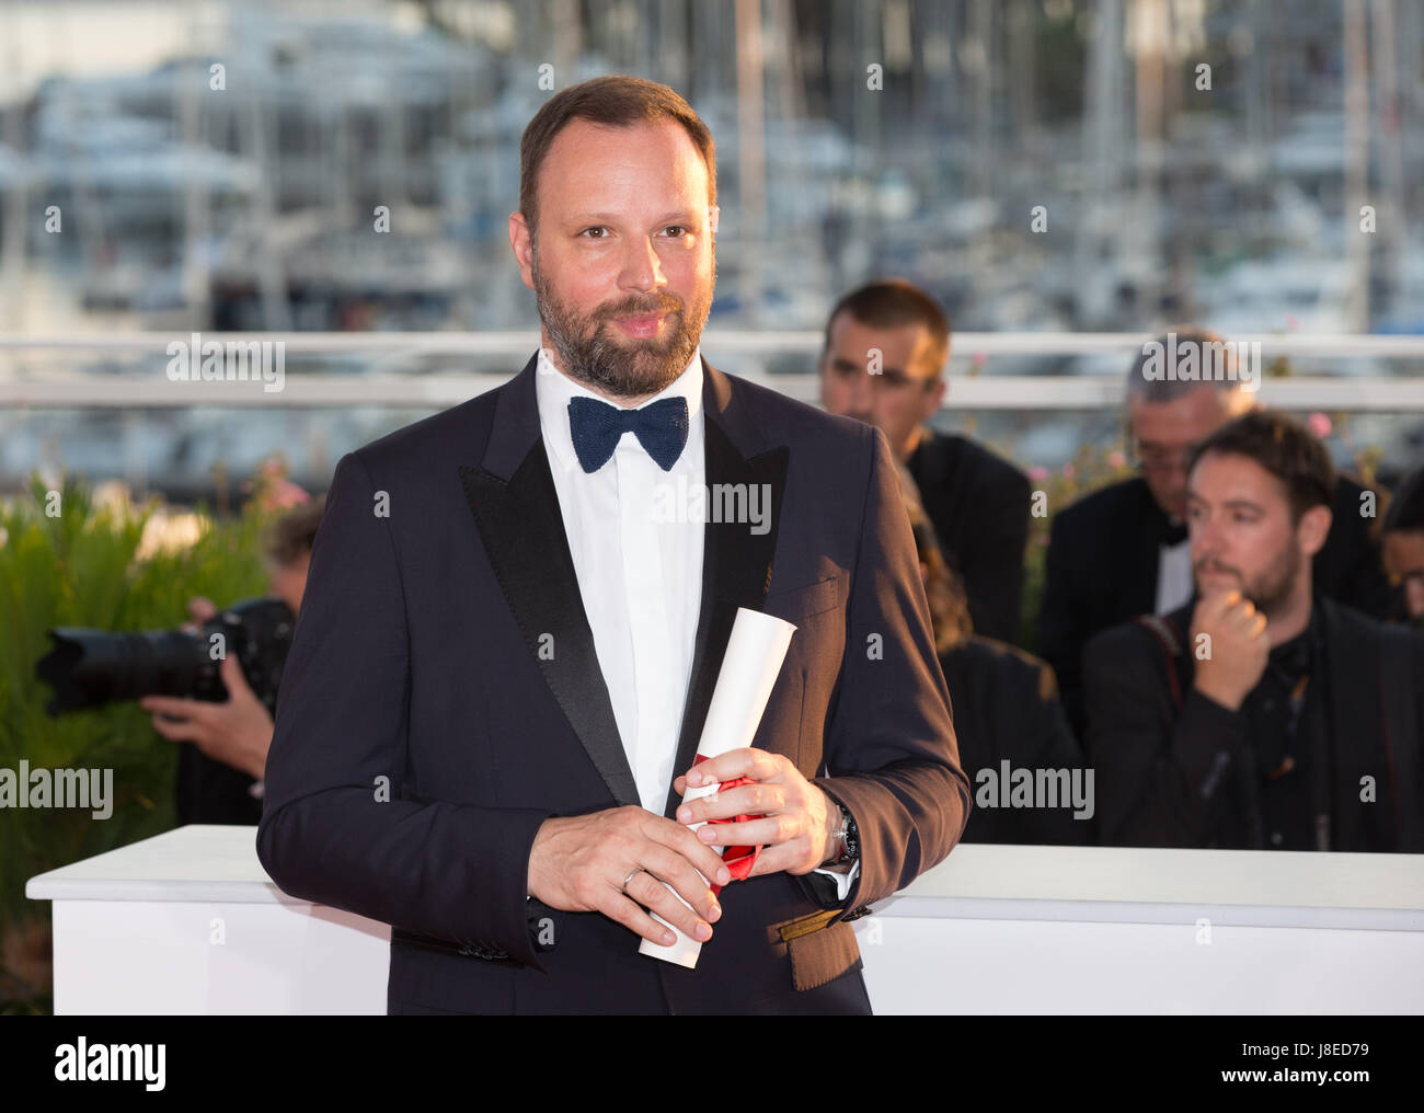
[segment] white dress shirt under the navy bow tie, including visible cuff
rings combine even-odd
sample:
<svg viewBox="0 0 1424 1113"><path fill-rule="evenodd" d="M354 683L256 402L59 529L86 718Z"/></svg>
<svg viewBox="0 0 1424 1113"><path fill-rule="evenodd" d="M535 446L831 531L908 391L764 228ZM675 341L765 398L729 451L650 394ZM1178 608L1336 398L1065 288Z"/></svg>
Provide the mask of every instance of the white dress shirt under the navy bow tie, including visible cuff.
<svg viewBox="0 0 1424 1113"><path fill-rule="evenodd" d="M618 734L642 807L661 816L676 773L672 764L702 609L705 527L696 514L666 512L676 505L672 491L698 491L706 482L702 354L693 352L682 374L642 403L686 399L688 441L669 471L658 467L634 433L622 434L601 468L584 471L568 404L575 397L607 399L560 371L543 347L535 397L578 594ZM665 487L661 494L659 487ZM819 872L836 880L844 900L859 868L856 863L849 874Z"/></svg>

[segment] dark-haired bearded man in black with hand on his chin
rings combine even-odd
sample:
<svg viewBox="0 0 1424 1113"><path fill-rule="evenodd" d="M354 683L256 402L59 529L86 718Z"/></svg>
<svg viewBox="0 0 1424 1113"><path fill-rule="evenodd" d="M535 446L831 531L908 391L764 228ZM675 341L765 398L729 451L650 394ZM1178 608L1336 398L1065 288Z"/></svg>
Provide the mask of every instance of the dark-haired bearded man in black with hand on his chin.
<svg viewBox="0 0 1424 1113"><path fill-rule="evenodd" d="M1324 445L1250 413L1188 477L1196 595L1084 653L1104 841L1420 853L1424 638L1313 591Z"/></svg>

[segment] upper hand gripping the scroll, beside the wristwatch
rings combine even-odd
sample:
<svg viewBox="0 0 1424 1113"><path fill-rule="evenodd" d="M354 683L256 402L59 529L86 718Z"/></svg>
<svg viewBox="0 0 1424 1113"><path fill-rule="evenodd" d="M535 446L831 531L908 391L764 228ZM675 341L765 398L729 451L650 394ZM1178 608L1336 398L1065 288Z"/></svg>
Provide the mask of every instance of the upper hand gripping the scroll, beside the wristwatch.
<svg viewBox="0 0 1424 1113"><path fill-rule="evenodd" d="M713 847L762 844L765 850L756 855L749 878L780 870L809 874L830 857L836 807L787 757L750 747L728 750L689 769L674 781L672 790L682 796L688 786L696 788L738 777L750 777L756 784L739 784L682 804L679 823L762 816L748 823L711 823L696 833L699 841Z"/></svg>

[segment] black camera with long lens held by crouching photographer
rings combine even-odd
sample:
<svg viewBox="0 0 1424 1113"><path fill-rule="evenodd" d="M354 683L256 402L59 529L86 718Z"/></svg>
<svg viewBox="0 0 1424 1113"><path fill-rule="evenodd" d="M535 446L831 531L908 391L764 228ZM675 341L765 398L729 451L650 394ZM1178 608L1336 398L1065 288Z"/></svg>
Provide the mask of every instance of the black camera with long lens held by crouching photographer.
<svg viewBox="0 0 1424 1113"><path fill-rule="evenodd" d="M105 633L57 626L50 631L54 648L40 658L34 672L54 692L44 709L56 716L141 696L222 703L228 689L218 668L232 653L252 692L275 717L276 686L295 625L292 608L281 599L248 599L219 612L197 633Z"/></svg>

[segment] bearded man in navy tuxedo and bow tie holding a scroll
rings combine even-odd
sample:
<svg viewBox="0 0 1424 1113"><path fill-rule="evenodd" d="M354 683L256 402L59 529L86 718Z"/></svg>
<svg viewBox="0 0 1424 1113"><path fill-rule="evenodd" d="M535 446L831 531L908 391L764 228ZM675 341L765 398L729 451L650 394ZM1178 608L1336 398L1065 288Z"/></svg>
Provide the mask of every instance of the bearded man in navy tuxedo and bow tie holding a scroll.
<svg viewBox="0 0 1424 1113"><path fill-rule="evenodd" d="M554 95L510 218L544 346L337 465L258 853L393 925L392 1012L864 1013L847 917L963 833L884 437L701 359L715 182L672 90ZM749 783L684 813L738 608L797 629L753 746L698 767ZM649 912L695 969L639 954Z"/></svg>

